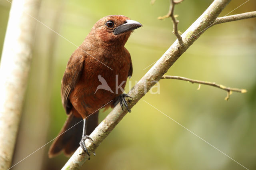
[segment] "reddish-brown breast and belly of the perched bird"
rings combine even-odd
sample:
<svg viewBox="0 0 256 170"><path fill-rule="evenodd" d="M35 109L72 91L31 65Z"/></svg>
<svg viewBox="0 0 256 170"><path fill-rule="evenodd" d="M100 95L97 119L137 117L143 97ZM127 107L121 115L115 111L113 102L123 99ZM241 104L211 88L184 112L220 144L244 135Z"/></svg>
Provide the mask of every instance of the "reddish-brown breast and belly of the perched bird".
<svg viewBox="0 0 256 170"><path fill-rule="evenodd" d="M71 100L78 112L93 113L122 94L130 69L130 56L86 57ZM98 60L97 60L98 59ZM78 103L83 101L82 104Z"/></svg>

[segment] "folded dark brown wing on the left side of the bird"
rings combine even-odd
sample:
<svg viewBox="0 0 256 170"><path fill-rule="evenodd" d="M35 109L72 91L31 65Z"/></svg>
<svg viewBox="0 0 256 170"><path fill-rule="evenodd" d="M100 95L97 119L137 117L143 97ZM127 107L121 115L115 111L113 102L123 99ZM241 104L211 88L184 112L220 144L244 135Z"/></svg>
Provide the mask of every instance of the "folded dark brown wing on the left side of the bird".
<svg viewBox="0 0 256 170"><path fill-rule="evenodd" d="M72 54L68 60L68 65L64 72L61 81L61 99L62 105L69 114L72 109L72 104L69 100L70 93L74 90L76 83L78 82L80 75L82 73L84 65L84 58L82 55Z"/></svg>

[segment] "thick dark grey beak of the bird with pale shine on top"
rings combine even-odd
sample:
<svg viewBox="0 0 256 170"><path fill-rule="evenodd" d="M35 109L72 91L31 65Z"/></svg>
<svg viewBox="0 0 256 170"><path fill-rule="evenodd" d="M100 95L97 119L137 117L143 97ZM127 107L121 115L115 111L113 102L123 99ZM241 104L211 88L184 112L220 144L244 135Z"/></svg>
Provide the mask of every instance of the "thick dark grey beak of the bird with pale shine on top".
<svg viewBox="0 0 256 170"><path fill-rule="evenodd" d="M121 34L123 32L127 32L127 31L131 31L131 30L135 30L137 28L140 28L142 26L142 24L140 24L137 21L134 20L126 20L124 22L124 24L118 26L115 30L114 30L114 34L118 35Z"/></svg>

